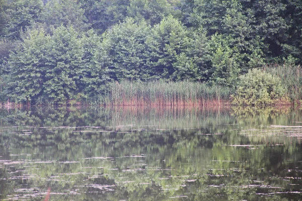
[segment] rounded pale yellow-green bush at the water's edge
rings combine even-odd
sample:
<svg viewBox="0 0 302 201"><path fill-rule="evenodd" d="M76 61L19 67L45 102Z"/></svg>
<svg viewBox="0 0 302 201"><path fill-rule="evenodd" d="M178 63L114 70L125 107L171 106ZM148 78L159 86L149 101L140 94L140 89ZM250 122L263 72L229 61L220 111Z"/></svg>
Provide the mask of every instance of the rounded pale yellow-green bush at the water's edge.
<svg viewBox="0 0 302 201"><path fill-rule="evenodd" d="M288 99L285 96L285 88L281 80L266 71L260 69L249 70L240 76L235 95L232 96L232 104L263 106L274 105L280 99ZM284 103L287 103L284 102Z"/></svg>

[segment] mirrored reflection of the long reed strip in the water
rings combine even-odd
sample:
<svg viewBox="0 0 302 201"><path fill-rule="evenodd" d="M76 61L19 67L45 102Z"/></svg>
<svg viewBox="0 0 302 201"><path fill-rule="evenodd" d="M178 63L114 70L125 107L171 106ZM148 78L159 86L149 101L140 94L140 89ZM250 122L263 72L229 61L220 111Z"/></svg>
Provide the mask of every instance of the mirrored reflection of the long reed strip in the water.
<svg viewBox="0 0 302 201"><path fill-rule="evenodd" d="M225 106L127 106L109 107L108 110L112 113L113 127L118 125L133 125L134 127L138 126L140 129L191 129L211 125L209 127L214 129L215 125L233 122L230 120L230 108Z"/></svg>

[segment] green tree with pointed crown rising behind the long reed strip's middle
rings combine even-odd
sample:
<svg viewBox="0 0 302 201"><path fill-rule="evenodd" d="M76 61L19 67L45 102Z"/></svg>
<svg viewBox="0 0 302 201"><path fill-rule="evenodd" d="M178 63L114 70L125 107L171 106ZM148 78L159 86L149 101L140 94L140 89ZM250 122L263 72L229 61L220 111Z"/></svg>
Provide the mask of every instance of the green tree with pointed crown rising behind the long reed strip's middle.
<svg viewBox="0 0 302 201"><path fill-rule="evenodd" d="M191 42L187 29L172 16L155 25L147 40L151 77L181 80L188 77L187 73L198 76L197 66L187 57Z"/></svg>

